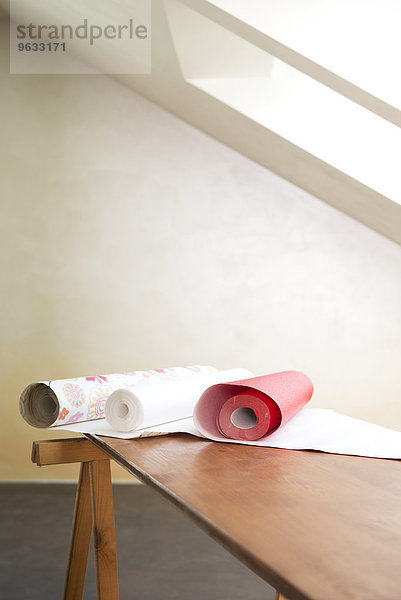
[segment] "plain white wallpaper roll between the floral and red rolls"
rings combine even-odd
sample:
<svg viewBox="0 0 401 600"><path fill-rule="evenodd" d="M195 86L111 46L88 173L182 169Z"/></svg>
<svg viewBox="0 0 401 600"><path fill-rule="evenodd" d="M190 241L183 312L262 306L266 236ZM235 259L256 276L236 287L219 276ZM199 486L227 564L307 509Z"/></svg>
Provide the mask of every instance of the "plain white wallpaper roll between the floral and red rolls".
<svg viewBox="0 0 401 600"><path fill-rule="evenodd" d="M192 417L196 402L210 386L252 375L246 369L200 374L165 383L119 389L106 402L106 421L117 431L134 431Z"/></svg>

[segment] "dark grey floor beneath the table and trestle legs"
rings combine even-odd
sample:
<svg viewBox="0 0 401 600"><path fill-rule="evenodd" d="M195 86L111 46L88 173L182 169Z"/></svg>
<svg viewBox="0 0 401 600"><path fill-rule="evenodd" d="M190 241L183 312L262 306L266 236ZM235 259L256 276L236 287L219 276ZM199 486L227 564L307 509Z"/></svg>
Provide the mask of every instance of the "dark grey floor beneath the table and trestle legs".
<svg viewBox="0 0 401 600"><path fill-rule="evenodd" d="M0 485L0 599L62 598L75 486ZM120 599L273 600L274 590L142 485L115 485ZM93 556L84 598L96 598Z"/></svg>

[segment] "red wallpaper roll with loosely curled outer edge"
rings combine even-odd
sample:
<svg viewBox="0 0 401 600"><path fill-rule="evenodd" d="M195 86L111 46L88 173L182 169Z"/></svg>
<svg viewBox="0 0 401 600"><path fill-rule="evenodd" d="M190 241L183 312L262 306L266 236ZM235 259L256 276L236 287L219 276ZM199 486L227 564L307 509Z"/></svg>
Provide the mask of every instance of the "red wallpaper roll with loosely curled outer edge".
<svg viewBox="0 0 401 600"><path fill-rule="evenodd" d="M194 409L205 437L259 440L284 425L310 400L312 382L299 371L284 371L208 388Z"/></svg>

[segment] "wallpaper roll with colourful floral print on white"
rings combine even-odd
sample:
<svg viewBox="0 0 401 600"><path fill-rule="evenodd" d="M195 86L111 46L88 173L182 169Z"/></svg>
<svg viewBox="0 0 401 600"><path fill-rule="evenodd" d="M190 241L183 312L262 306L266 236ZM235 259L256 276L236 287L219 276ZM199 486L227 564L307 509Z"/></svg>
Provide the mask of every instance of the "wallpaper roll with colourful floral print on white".
<svg viewBox="0 0 401 600"><path fill-rule="evenodd" d="M20 397L20 413L29 425L54 427L104 417L106 399L117 389L196 378L216 373L209 366L170 367L112 375L41 381L28 385Z"/></svg>

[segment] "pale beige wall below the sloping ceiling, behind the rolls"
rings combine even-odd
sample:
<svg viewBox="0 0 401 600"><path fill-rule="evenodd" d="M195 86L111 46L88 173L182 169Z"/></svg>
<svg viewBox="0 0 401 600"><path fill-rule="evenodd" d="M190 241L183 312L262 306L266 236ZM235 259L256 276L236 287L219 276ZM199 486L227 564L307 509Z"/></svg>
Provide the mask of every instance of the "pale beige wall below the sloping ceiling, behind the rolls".
<svg viewBox="0 0 401 600"><path fill-rule="evenodd" d="M61 435L18 413L47 378L295 368L401 429L399 246L107 77L1 57L2 479L76 476L29 461Z"/></svg>

